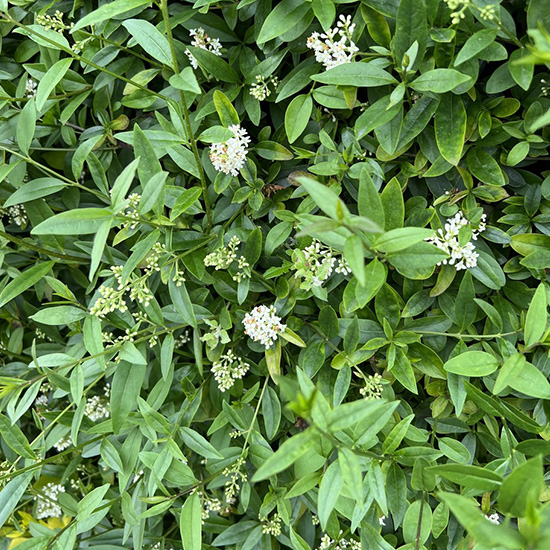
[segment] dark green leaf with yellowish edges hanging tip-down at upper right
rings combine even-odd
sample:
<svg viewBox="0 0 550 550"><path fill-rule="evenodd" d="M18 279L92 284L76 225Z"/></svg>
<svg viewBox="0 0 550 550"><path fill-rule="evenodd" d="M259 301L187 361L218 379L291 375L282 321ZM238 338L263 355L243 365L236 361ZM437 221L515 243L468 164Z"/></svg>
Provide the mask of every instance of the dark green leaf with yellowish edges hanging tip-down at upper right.
<svg viewBox="0 0 550 550"><path fill-rule="evenodd" d="M466 109L460 96L444 94L435 115L435 139L441 156L455 166L466 137Z"/></svg>

